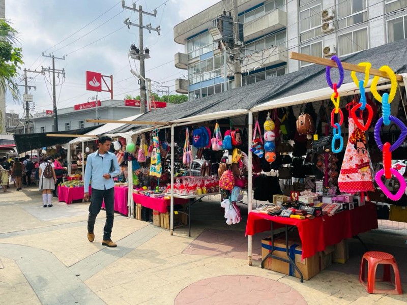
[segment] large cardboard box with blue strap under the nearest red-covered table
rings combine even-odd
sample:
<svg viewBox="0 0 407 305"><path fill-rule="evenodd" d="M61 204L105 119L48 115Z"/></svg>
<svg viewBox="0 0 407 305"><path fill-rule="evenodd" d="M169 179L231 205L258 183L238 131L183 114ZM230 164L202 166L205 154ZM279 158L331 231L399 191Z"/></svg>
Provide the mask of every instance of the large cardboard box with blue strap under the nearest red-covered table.
<svg viewBox="0 0 407 305"><path fill-rule="evenodd" d="M302 245L301 243L289 240L288 247L290 249L291 258L295 261L297 267L300 269L304 280L309 280L319 272L319 254L315 254L312 257L308 257L304 260L301 259ZM264 259L271 250L271 238L261 240L261 257ZM281 258L287 258L285 249L285 238L274 240L273 255ZM300 278L300 275L296 268L291 264L280 261L278 259L268 258L264 267L269 270L284 273L285 275L295 276Z"/></svg>

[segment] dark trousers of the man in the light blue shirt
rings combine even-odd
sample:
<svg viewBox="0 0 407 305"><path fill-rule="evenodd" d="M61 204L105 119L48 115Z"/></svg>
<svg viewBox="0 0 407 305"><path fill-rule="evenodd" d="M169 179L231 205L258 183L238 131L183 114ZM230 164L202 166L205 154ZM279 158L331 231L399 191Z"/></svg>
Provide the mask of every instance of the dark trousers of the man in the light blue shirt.
<svg viewBox="0 0 407 305"><path fill-rule="evenodd" d="M114 188L108 190L95 190L92 188L91 204L89 206L88 231L93 232L96 216L102 208L102 202L105 202L106 223L103 228L103 240L110 239L111 229L114 218Z"/></svg>

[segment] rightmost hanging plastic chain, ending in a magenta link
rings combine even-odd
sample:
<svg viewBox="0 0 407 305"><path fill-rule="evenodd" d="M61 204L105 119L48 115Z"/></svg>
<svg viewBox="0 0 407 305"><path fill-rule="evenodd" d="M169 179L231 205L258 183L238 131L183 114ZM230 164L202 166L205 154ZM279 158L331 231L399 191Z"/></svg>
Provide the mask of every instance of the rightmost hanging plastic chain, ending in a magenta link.
<svg viewBox="0 0 407 305"><path fill-rule="evenodd" d="M385 93L381 96L377 92L377 81L379 81L379 77L375 76L373 78L371 84L371 92L374 98L382 103L382 117L377 120L377 123L374 127L374 140L376 141L377 146L380 150L383 151L383 169L379 170L375 175L376 184L379 188L383 191L383 193L391 200L397 201L401 198L405 191L405 180L403 176L398 172L398 170L392 168L392 151L397 149L401 144L404 142L405 137L407 136L407 127L405 127L404 123L398 119L397 117L391 115L390 113L390 103L393 101L396 90L397 90L397 80L396 75L394 74L393 70L388 66L383 66L379 69L380 71L386 72L391 81L390 93ZM382 125L389 126L391 123L395 124L401 131L398 139L395 143L391 144L390 142L386 142L383 144L382 139L380 138L380 131L382 129ZM399 182L399 188L396 194L393 194L391 190L385 185L382 180L382 176L385 175L386 179L392 178L394 176Z"/></svg>

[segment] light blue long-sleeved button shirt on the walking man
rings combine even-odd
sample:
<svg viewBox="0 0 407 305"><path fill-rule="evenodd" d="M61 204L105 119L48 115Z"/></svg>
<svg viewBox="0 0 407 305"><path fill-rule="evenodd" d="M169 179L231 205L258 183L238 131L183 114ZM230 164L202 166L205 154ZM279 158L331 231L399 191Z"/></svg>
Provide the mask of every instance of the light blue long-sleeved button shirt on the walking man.
<svg viewBox="0 0 407 305"><path fill-rule="evenodd" d="M103 157L101 157L103 156ZM111 171L113 170L113 171ZM110 174L110 179L103 178L104 174ZM113 177L120 174L120 166L116 156L109 151L100 155L95 151L88 155L85 167L84 192L89 193L89 183L92 178L92 189L108 190L114 187Z"/></svg>

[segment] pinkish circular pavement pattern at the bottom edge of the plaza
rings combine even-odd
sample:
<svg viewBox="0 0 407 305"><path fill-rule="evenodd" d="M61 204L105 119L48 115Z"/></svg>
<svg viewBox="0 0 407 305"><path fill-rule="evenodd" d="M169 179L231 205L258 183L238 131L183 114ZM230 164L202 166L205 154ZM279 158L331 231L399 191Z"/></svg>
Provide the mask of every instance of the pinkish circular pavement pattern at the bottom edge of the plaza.
<svg viewBox="0 0 407 305"><path fill-rule="evenodd" d="M306 305L307 302L297 290L273 280L254 276L222 276L189 285L177 295L175 304Z"/></svg>

